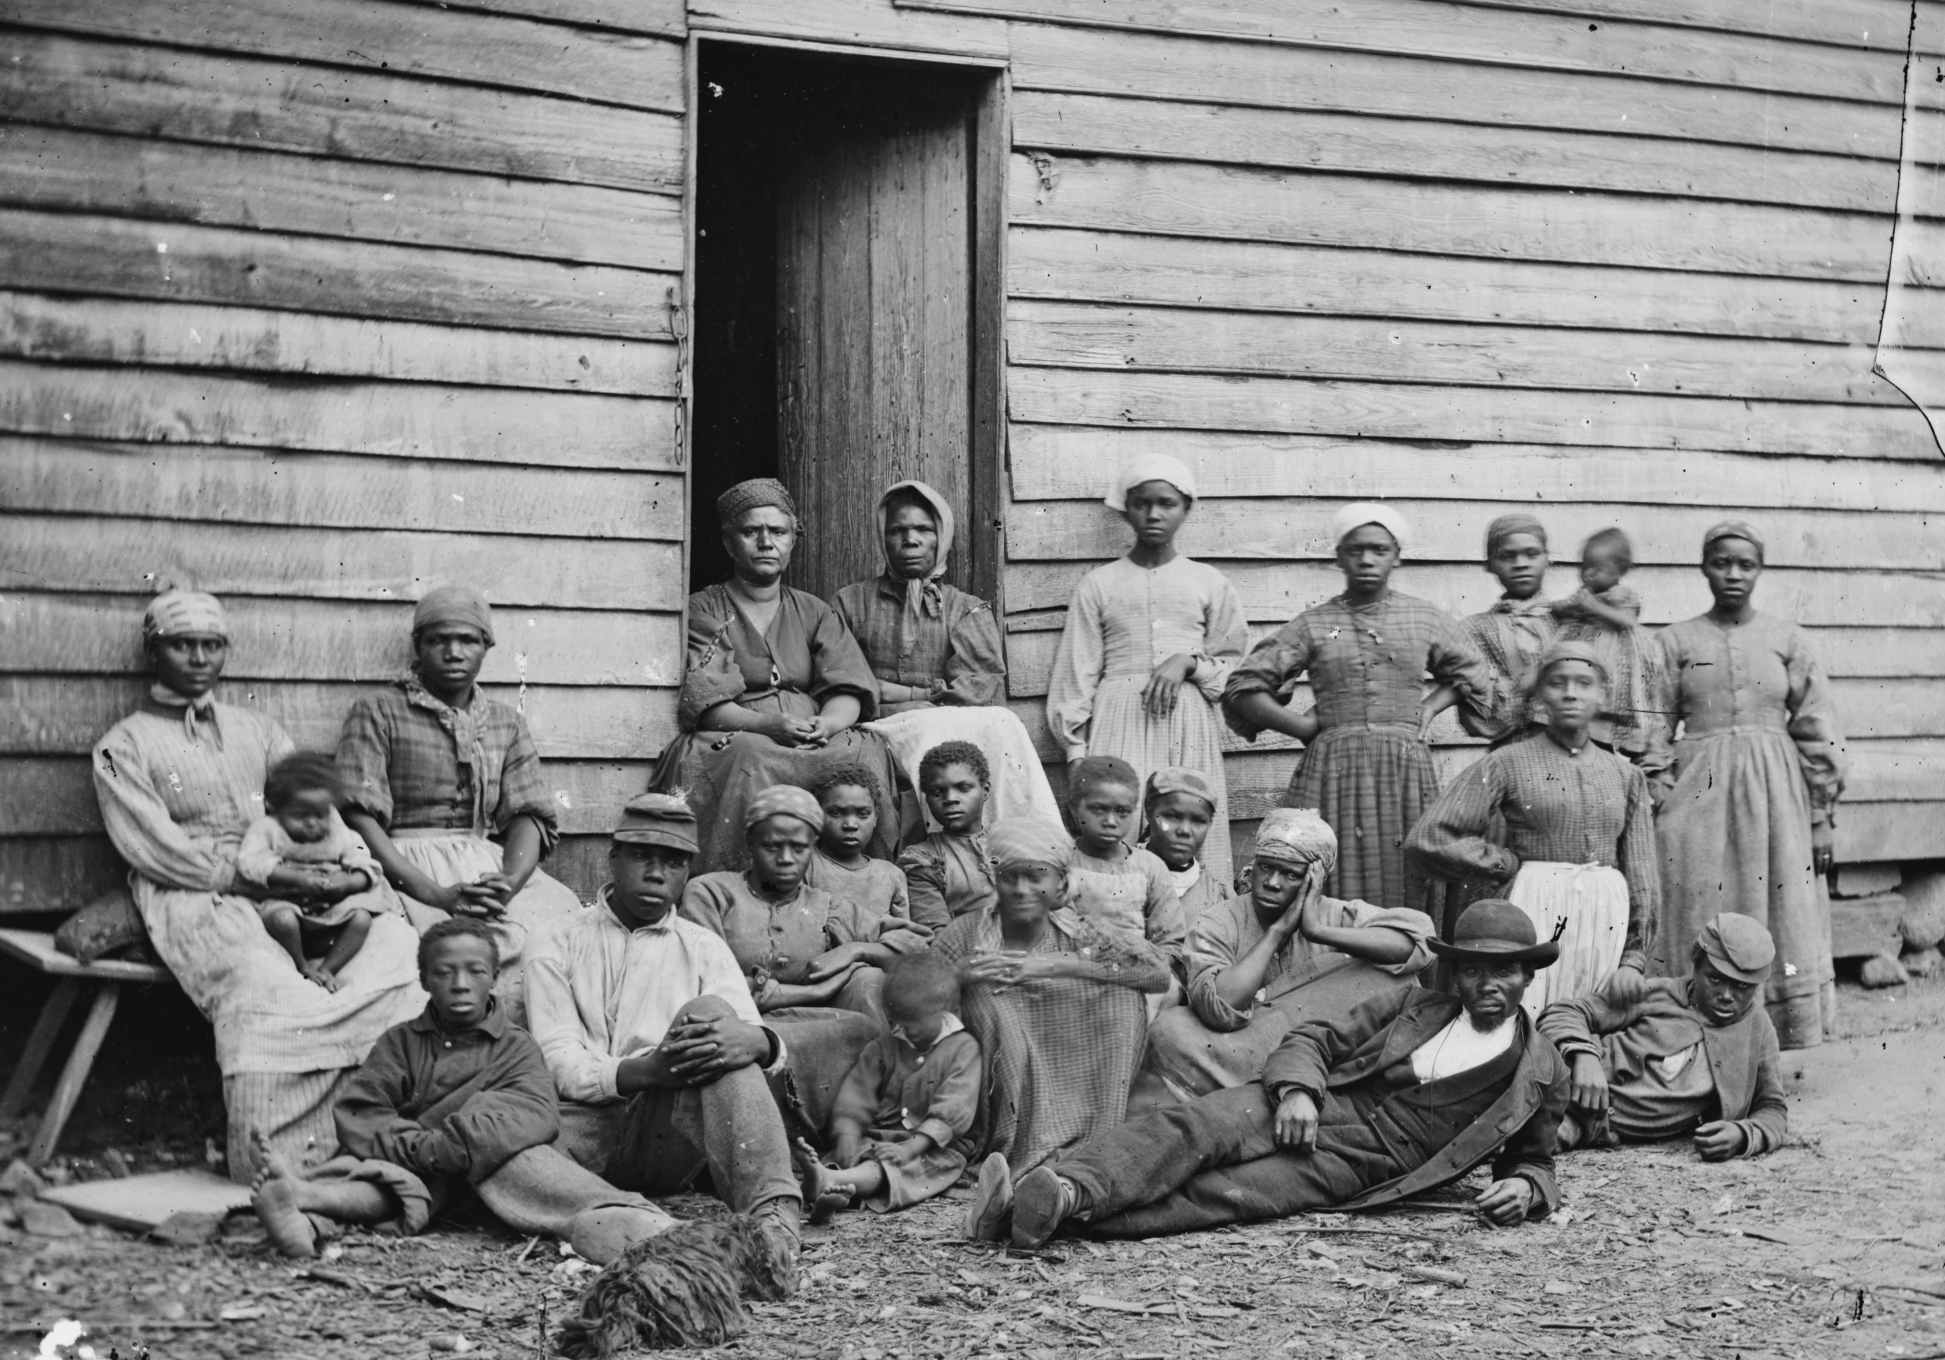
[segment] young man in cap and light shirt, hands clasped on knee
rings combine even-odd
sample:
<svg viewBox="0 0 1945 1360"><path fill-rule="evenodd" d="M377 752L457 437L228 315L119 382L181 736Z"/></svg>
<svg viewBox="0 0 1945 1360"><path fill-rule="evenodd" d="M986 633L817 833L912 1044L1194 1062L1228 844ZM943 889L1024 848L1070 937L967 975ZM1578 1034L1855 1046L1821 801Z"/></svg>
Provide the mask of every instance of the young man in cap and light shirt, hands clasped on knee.
<svg viewBox="0 0 1945 1360"><path fill-rule="evenodd" d="M622 1189L716 1193L796 1255L797 1177L764 1080L784 1043L729 946L677 916L696 854L681 798L632 800L593 911L558 922L527 967L533 1037L560 1090L560 1150Z"/></svg>

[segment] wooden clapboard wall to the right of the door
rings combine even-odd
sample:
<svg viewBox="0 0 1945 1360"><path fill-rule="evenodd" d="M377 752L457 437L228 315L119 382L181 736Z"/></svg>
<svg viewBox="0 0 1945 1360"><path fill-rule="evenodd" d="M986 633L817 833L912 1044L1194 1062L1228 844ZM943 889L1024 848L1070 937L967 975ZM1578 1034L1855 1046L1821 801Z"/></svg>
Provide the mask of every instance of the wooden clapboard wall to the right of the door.
<svg viewBox="0 0 1945 1360"><path fill-rule="evenodd" d="M1871 374L1910 18L690 4L696 27L1009 62L1004 603L1013 704L1048 757L1058 611L1126 543L1097 500L1128 453L1200 467L1183 545L1235 578L1256 636L1338 588L1346 498L1400 502L1420 543L1398 586L1463 613L1496 595L1492 516L1540 510L1556 595L1579 541L1620 523L1649 623L1708 607L1700 533L1735 514L1770 541L1760 605L1809 626L1836 677L1846 860L1945 854L1945 461ZM1941 109L1933 91L1916 117ZM1945 348L1941 317L1906 339ZM1447 769L1472 759L1443 732ZM1231 755L1251 819L1295 751Z"/></svg>

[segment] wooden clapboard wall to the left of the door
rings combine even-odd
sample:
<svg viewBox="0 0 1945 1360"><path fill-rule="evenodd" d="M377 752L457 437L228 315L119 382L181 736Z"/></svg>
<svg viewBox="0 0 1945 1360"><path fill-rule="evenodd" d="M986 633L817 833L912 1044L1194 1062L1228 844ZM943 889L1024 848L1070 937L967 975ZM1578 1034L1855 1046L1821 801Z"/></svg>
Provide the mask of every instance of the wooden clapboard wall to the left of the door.
<svg viewBox="0 0 1945 1360"><path fill-rule="evenodd" d="M317 747L482 588L591 887L681 673L681 4L0 19L0 911L117 876L88 749L158 584Z"/></svg>

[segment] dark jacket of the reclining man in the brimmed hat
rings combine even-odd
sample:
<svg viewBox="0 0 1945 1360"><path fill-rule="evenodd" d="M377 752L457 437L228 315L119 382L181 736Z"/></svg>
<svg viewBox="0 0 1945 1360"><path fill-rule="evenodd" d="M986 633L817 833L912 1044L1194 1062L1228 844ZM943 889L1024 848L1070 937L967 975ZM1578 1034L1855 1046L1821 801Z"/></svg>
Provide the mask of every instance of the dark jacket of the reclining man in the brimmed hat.
<svg viewBox="0 0 1945 1360"><path fill-rule="evenodd" d="M1393 992L1360 1002L1348 1016L1297 1025L1278 1045L1262 1068L1262 1084L1272 1101L1290 1092L1305 1092L1323 1101L1325 1092L1356 1086L1397 1062L1437 1035L1461 1012L1459 998L1445 992ZM1503 1181L1523 1175L1533 1183L1533 1216L1560 1206L1554 1181L1554 1144L1560 1117L1568 1109L1568 1066L1554 1045L1519 1014L1519 1062L1505 1092L1439 1148L1424 1165L1373 1185L1340 1208L1379 1208L1424 1195L1457 1181L1492 1158L1492 1175Z"/></svg>

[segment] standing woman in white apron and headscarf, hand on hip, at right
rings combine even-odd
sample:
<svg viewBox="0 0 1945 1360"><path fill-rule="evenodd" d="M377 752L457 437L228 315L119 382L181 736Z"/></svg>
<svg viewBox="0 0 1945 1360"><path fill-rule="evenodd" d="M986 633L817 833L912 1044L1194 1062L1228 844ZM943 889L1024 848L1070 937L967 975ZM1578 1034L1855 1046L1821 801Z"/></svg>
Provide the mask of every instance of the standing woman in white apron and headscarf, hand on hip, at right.
<svg viewBox="0 0 1945 1360"><path fill-rule="evenodd" d="M1640 996L1661 911L1647 776L1591 735L1609 683L1601 648L1556 640L1529 691L1540 732L1461 770L1406 841L1428 874L1492 883L1560 942L1527 990L1535 1018L1603 986Z"/></svg>

